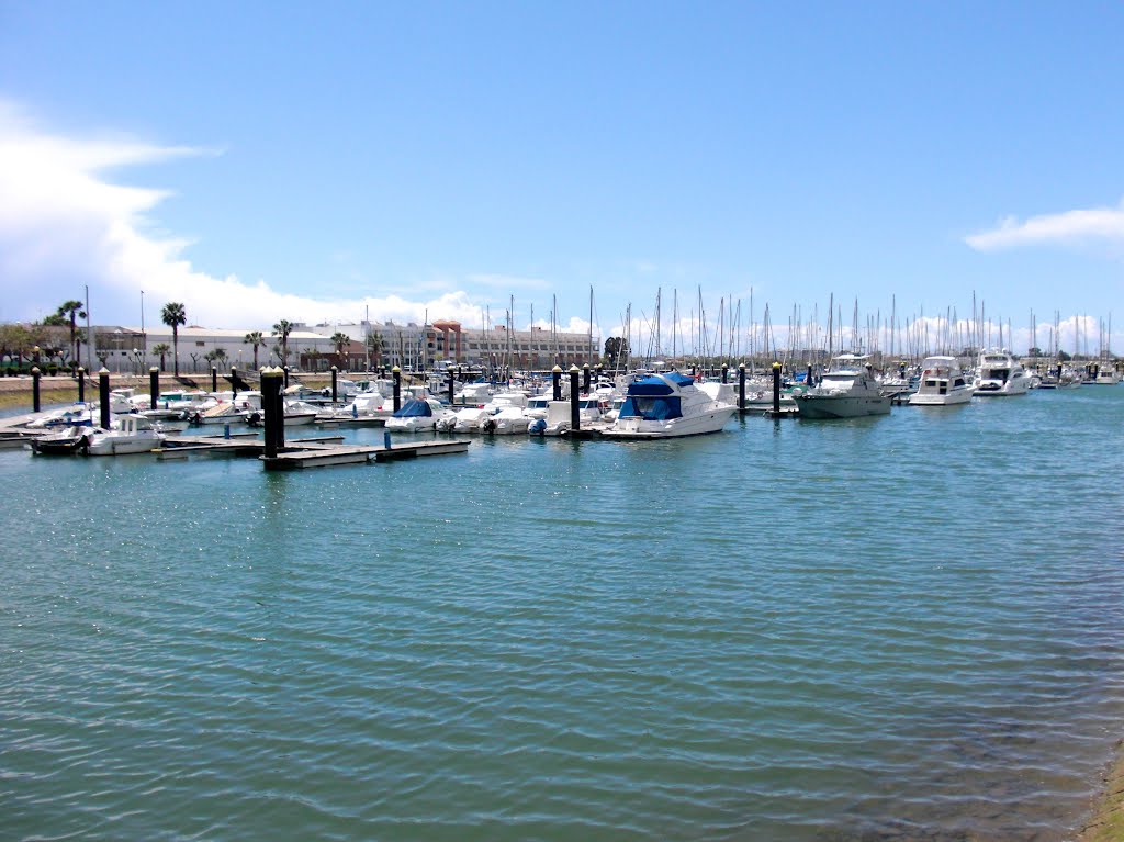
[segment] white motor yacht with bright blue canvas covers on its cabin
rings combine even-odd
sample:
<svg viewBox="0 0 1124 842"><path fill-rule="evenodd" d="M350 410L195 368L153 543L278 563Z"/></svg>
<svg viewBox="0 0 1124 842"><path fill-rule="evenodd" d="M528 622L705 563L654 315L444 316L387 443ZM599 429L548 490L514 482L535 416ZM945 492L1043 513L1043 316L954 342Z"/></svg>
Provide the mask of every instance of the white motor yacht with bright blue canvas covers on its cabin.
<svg viewBox="0 0 1124 842"><path fill-rule="evenodd" d="M617 419L601 435L673 438L717 433L736 411L736 406L714 400L686 374L650 374L628 384Z"/></svg>

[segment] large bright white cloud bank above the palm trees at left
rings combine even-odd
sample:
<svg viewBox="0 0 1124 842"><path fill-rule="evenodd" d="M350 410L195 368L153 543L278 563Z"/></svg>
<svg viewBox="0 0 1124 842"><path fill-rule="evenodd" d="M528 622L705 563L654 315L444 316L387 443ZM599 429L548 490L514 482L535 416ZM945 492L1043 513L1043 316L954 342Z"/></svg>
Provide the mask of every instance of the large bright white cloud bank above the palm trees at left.
<svg viewBox="0 0 1124 842"><path fill-rule="evenodd" d="M148 324L167 301L183 302L189 324L268 327L278 319L315 324L451 318L481 323L455 279L417 279L423 300L398 296L315 299L265 280L214 277L194 269L190 242L153 233L151 217L167 191L114 183L108 170L170 162L209 150L157 146L121 137L66 137L37 126L0 99L0 320L37 319L89 286L96 324L139 326L144 290ZM345 251L334 255L347 263ZM540 289L545 281L492 274L466 282ZM351 284L348 284L351 286Z"/></svg>

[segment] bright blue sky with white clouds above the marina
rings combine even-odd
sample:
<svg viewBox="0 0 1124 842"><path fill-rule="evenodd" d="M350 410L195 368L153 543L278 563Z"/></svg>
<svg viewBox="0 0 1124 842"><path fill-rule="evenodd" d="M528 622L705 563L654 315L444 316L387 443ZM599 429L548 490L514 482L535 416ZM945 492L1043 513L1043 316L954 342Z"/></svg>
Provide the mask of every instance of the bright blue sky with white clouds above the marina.
<svg viewBox="0 0 1124 842"><path fill-rule="evenodd" d="M1121 43L1113 2L0 0L0 322L975 301L1124 353Z"/></svg>

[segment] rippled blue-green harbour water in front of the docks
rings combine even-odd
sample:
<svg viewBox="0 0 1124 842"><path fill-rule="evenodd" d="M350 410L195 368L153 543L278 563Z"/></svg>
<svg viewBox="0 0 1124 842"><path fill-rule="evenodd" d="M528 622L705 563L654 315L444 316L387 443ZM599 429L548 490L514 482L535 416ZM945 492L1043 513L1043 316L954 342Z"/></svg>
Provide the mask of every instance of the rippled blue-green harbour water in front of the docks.
<svg viewBox="0 0 1124 842"><path fill-rule="evenodd" d="M1069 839L1124 732L1122 431L1086 387L289 474L0 452L0 838Z"/></svg>

